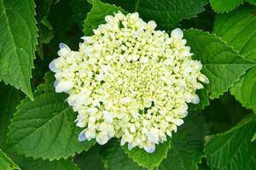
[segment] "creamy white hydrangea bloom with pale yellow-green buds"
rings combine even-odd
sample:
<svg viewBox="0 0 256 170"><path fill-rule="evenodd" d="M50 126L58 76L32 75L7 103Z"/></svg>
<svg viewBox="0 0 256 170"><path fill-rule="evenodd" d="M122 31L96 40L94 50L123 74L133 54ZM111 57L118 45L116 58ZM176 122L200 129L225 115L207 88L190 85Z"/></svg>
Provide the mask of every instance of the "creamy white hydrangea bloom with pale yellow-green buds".
<svg viewBox="0 0 256 170"><path fill-rule="evenodd" d="M82 37L79 51L60 44L60 57L49 64L55 91L69 94L68 104L78 111L80 141L106 144L117 137L130 150L152 153L183 124L187 103L200 102L195 91L209 80L179 28L169 37L137 13L105 20L93 36Z"/></svg>

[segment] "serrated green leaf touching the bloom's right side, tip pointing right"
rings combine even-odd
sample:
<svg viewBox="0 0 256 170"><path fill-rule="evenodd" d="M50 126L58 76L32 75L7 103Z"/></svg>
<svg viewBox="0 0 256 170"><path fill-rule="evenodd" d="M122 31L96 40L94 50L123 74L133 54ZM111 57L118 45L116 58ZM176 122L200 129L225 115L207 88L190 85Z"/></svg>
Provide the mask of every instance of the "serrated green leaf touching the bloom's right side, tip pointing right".
<svg viewBox="0 0 256 170"><path fill-rule="evenodd" d="M202 73L208 77L210 84L199 91L201 103L196 108L204 108L210 99L218 98L248 69L256 64L243 59L233 48L228 46L219 37L208 32L190 29L184 31L185 38L191 51L193 59L201 60L203 64Z"/></svg>

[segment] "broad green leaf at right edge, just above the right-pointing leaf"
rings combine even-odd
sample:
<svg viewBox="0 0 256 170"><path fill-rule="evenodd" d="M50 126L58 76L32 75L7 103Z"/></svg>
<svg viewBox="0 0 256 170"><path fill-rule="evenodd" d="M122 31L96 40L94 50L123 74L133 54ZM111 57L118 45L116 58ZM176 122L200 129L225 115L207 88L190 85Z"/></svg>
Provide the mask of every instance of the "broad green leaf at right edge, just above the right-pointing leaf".
<svg viewBox="0 0 256 170"><path fill-rule="evenodd" d="M256 7L243 6L228 14L218 14L213 33L233 46L246 59L256 61Z"/></svg>

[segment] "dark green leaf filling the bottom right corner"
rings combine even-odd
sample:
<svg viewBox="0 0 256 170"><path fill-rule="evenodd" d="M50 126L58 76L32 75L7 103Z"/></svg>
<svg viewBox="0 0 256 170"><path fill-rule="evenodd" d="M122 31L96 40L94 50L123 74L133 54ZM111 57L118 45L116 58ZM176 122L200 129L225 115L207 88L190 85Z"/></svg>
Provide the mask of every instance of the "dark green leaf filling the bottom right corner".
<svg viewBox="0 0 256 170"><path fill-rule="evenodd" d="M205 146L207 164L214 170L254 170L256 143L251 142L256 131L255 117L247 117L228 132L208 137Z"/></svg>

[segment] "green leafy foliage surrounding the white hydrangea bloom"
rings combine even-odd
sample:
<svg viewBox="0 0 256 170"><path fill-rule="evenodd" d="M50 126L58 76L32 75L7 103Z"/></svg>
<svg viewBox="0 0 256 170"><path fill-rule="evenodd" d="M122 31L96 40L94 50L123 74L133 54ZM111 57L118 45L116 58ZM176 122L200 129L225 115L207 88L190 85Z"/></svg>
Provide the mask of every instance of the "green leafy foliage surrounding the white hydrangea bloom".
<svg viewBox="0 0 256 170"><path fill-rule="evenodd" d="M0 0L0 170L254 170L255 0ZM77 113L56 94L49 62L77 50L105 15L138 12L183 29L210 84L166 143L144 150L79 142ZM33 60L34 59L34 60ZM23 92L23 93L22 93ZM25 96L26 95L26 96Z"/></svg>

